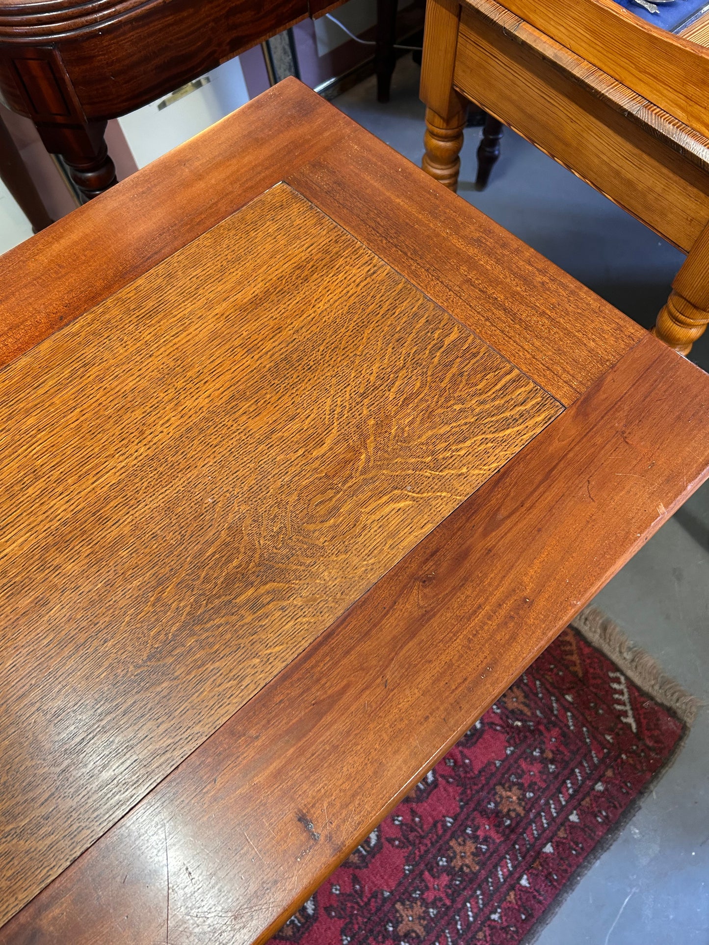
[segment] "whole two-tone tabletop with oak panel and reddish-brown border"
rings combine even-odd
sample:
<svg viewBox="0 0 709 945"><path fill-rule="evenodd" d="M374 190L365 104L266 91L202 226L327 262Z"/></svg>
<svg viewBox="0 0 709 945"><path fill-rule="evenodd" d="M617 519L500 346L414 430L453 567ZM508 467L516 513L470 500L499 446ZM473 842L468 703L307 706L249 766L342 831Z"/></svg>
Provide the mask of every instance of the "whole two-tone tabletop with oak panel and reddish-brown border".
<svg viewBox="0 0 709 945"><path fill-rule="evenodd" d="M709 472L709 378L286 80L0 259L0 943L264 940Z"/></svg>

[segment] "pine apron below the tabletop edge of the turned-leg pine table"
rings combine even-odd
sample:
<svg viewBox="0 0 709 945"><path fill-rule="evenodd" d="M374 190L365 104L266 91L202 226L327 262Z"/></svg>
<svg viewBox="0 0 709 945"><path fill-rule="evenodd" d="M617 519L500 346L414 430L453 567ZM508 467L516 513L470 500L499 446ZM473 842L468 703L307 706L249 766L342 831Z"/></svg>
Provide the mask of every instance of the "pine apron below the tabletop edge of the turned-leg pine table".
<svg viewBox="0 0 709 945"><path fill-rule="evenodd" d="M510 32L507 18L493 22L496 4L478 6L463 9L458 90L675 246L691 249L709 220L709 171L629 120L609 103L610 90L590 88L587 64L527 24Z"/></svg>

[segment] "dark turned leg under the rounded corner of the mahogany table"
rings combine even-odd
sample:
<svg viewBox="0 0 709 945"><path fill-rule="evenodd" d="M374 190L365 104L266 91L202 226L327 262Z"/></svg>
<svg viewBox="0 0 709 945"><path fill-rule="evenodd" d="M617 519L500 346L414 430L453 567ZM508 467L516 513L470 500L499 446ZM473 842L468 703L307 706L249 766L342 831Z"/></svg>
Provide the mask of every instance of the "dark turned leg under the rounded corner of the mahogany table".
<svg viewBox="0 0 709 945"><path fill-rule="evenodd" d="M46 149L51 154L61 154L82 203L116 183L115 167L103 140L106 125L102 121L79 126L37 126Z"/></svg>

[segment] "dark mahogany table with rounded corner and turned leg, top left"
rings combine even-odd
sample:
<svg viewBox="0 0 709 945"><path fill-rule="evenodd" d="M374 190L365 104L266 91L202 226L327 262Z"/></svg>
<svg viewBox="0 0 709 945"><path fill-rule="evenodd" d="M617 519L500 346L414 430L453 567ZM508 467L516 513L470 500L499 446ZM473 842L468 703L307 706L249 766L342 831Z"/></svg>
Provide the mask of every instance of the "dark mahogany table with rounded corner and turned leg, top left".
<svg viewBox="0 0 709 945"><path fill-rule="evenodd" d="M0 0L0 96L60 154L83 198L115 182L109 118L132 112L336 3ZM389 97L396 0L379 0L377 88Z"/></svg>

